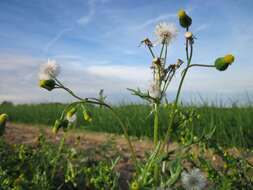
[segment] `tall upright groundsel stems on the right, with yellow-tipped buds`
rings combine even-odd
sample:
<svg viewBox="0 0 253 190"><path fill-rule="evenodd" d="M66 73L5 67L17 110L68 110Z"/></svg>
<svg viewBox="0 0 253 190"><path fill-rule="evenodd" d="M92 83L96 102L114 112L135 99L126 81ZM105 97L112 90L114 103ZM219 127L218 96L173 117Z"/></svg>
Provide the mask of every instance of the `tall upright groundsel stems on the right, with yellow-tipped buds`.
<svg viewBox="0 0 253 190"><path fill-rule="evenodd" d="M152 56L152 62L151 62L151 70L153 73L153 80L151 82L150 88L146 91L141 91L139 88L137 90L135 89L128 89L132 92L133 95L136 95L140 98L142 98L145 101L148 101L150 105L152 106L151 113L154 115L154 136L153 136L153 142L154 142L154 150L153 153L150 154L149 159L147 160L147 163L143 165L143 168L139 170L139 173L137 172L137 180L135 179L133 181L133 186L138 188L132 188L132 189L142 189L147 186L149 187L157 187L161 184L163 184L165 187L171 187L175 182L179 179L180 173L182 171L181 167L181 161L182 157L184 157L187 154L187 148L197 143L203 139L210 139L211 135L214 133L215 129L212 129L211 132L205 134L202 136L202 138L197 139L196 137L193 138L192 130L191 130L191 139L188 140L188 144L184 147L179 148L177 154L177 158L174 159L172 164L169 166L169 179L163 179L161 177L162 170L165 171L166 167L166 160L170 157L170 153L165 154L165 146L167 145L167 142L169 141L171 134L173 132L173 125L175 119L178 117L179 112L179 97L181 94L183 82L185 80L185 77L189 71L190 68L193 67L211 67L216 68L219 71L226 70L229 65L231 65L234 62L234 56L231 54L222 56L217 58L214 61L214 64L212 65L203 65L203 64L192 64L192 56L193 56L193 45L195 43L196 37L194 36L193 32L190 30L190 26L192 24L192 18L185 12L185 10L179 10L178 12L178 18L179 18L179 24L180 26L185 30L184 38L185 38L185 51L186 51L186 59L178 58L174 64L167 65L167 54L168 54L168 46L172 45L172 42L175 40L178 29L175 27L174 24L161 22L155 27L155 35L157 40L152 42L149 38L145 38L141 44L145 45L151 56ZM154 52L154 48L159 48L160 51L158 55L156 55ZM182 68L184 67L184 68ZM159 139L158 138L158 128L159 128L159 109L161 107L161 104L165 103L167 104L166 99L166 91L172 81L172 79L175 76L175 73L182 68L181 71L181 79L179 82L179 86L176 93L175 101L171 104L171 112L169 113L169 125L167 128L167 131L164 133L164 138ZM192 121L192 118L190 118L190 121ZM179 124L181 125L181 124ZM189 136L189 135L188 135ZM176 152L176 151L174 151ZM164 155L166 159L164 159ZM163 164L160 164L163 163ZM163 165L161 167L161 165ZM182 177L183 184L189 184L186 182L192 182L194 176L193 174L200 174L198 169L194 169L189 175L186 175L186 173L183 174L184 177ZM197 175L195 175L197 176ZM200 178L200 175L198 175L198 179ZM202 187L203 180L196 180L199 183L197 189L201 189L199 187ZM193 186L195 189L195 186ZM188 187L187 187L188 188ZM188 188L191 189L191 188Z"/></svg>

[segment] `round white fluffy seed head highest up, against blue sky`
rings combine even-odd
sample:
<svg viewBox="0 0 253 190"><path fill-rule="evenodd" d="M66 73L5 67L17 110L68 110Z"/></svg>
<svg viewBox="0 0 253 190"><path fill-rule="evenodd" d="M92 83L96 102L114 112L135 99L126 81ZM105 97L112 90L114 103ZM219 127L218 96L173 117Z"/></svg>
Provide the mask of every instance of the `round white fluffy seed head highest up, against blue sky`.
<svg viewBox="0 0 253 190"><path fill-rule="evenodd" d="M177 36L178 30L172 23L160 22L155 27L155 35L159 43L169 44Z"/></svg>

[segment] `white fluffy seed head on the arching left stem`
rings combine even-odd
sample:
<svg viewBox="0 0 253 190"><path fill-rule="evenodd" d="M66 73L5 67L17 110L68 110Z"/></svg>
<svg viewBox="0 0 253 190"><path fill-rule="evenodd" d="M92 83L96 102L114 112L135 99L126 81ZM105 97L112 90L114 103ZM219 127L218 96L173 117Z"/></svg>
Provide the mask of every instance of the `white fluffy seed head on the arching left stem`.
<svg viewBox="0 0 253 190"><path fill-rule="evenodd" d="M60 74L60 66L55 60L48 59L47 63L40 67L39 79L49 80L56 78Z"/></svg>

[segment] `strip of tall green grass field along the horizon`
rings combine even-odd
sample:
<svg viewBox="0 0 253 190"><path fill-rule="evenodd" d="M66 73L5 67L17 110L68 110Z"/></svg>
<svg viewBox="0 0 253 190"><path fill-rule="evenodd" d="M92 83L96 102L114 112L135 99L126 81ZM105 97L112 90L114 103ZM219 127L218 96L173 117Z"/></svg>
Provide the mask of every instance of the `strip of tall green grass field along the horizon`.
<svg viewBox="0 0 253 190"><path fill-rule="evenodd" d="M65 106L64 104L2 104L0 113L7 113L11 122L52 126L55 119L60 117ZM150 106L128 104L114 108L126 123L131 136L153 136L153 116L149 116ZM213 138L220 144L228 147L253 147L253 106L233 106L230 108L208 105L184 106L185 110L192 108L196 109L201 116L199 120L194 122L196 135L201 135L203 130L216 126ZM93 117L92 123L85 123L81 115L78 115L77 126L80 129L122 133L113 115L105 108L91 107L90 112ZM166 131L168 118L168 110L163 108L160 112L160 136ZM174 135L174 140L177 140L176 135Z"/></svg>

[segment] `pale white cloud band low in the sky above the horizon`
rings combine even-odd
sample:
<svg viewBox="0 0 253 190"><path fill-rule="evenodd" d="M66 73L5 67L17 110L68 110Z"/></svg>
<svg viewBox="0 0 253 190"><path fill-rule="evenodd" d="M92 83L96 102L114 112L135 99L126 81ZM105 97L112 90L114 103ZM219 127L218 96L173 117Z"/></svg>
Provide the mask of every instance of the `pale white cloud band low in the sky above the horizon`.
<svg viewBox="0 0 253 190"><path fill-rule="evenodd" d="M40 64L46 59L25 55L0 54L0 101L9 100L21 102L51 102L71 101L73 98L64 91L48 92L38 87L37 73ZM56 58L62 66L60 80L82 97L97 96L104 89L110 101L131 99L126 88L146 89L151 80L151 70L148 66L112 65L110 61L94 60L89 65L85 58L66 55ZM238 75L233 66L226 72L210 69L192 69L183 86L183 97L186 94L205 94L204 97L215 97L226 94L227 98L235 93L253 92L253 81L249 70L242 69ZM236 66L236 65L235 65ZM168 95L173 98L180 79L180 73L172 81ZM217 93L217 94L216 94ZM190 96L187 96L189 100ZM190 97L190 98L189 98ZM116 99L117 100L116 100ZM225 98L226 99L226 98Z"/></svg>

